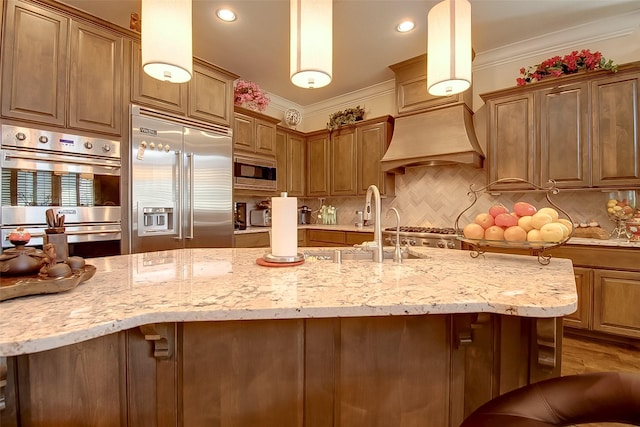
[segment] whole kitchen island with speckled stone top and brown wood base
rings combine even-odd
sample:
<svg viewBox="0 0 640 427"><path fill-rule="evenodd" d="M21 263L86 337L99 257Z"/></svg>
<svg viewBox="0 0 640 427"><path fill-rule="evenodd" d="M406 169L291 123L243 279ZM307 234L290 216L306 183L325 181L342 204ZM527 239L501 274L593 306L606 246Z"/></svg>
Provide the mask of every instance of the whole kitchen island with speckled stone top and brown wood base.
<svg viewBox="0 0 640 427"><path fill-rule="evenodd" d="M264 249L92 259L70 292L0 303L1 425L457 426L559 374L571 261L410 251L286 268L258 266Z"/></svg>

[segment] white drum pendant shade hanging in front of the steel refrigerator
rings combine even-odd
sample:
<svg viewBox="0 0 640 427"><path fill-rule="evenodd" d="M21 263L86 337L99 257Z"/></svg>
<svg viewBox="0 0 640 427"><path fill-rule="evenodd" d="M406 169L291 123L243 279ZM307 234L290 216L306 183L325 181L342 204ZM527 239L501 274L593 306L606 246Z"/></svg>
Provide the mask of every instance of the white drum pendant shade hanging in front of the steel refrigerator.
<svg viewBox="0 0 640 427"><path fill-rule="evenodd" d="M193 74L191 0L142 0L142 68L183 83Z"/></svg>

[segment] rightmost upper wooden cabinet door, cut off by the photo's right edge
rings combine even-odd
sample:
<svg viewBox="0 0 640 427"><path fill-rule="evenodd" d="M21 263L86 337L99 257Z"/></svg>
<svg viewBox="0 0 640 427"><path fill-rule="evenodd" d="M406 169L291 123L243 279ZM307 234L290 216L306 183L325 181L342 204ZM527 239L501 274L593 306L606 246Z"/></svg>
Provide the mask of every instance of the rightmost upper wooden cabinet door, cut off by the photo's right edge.
<svg viewBox="0 0 640 427"><path fill-rule="evenodd" d="M593 184L640 184L640 72L591 83Z"/></svg>

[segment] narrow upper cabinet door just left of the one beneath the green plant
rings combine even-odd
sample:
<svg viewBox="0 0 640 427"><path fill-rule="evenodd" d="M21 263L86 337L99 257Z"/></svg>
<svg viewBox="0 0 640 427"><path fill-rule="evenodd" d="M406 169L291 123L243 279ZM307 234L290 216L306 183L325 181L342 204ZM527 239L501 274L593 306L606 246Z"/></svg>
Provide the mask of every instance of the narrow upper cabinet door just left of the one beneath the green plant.
<svg viewBox="0 0 640 427"><path fill-rule="evenodd" d="M329 195L329 133L321 131L307 137L307 197Z"/></svg>

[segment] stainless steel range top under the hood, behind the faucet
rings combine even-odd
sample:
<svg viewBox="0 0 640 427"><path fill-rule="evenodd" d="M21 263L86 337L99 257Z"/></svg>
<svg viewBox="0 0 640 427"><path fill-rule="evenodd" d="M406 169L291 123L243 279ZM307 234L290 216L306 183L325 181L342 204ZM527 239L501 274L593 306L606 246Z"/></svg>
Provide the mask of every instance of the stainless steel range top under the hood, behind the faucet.
<svg viewBox="0 0 640 427"><path fill-rule="evenodd" d="M396 244L396 228L385 228L382 232L384 242L390 245ZM438 227L400 227L400 245L425 246L440 249L460 249L461 243L456 237L453 228Z"/></svg>

